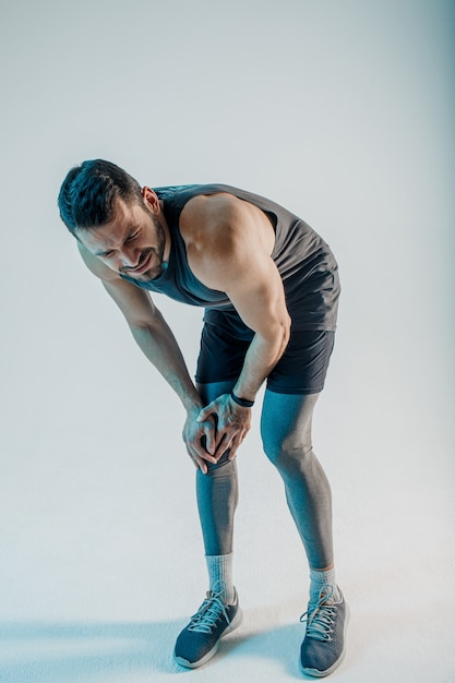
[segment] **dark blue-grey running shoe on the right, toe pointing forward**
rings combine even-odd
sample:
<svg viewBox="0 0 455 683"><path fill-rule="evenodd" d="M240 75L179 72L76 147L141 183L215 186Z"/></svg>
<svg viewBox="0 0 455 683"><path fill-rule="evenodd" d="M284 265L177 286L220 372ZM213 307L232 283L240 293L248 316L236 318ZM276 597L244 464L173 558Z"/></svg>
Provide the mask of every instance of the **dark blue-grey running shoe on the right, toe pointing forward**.
<svg viewBox="0 0 455 683"><path fill-rule="evenodd" d="M345 636L349 610L339 590L339 600L333 599L333 587L321 588L318 603L310 604L300 618L307 623L300 649L303 673L325 676L335 671L345 656Z"/></svg>

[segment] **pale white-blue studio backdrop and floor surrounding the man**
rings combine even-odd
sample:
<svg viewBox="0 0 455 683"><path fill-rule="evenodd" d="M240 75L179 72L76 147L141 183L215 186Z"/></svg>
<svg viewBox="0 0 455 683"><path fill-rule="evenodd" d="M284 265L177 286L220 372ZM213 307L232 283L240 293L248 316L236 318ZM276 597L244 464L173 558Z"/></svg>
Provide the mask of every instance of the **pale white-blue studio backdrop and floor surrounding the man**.
<svg viewBox="0 0 455 683"><path fill-rule="evenodd" d="M431 659L453 680L429 612L455 601L454 20L445 0L1 5L0 681L173 674L205 590L183 412L58 217L64 175L95 157L152 187L243 187L328 241L343 299L314 441L357 610L339 675L423 681ZM157 303L192 371L202 312ZM246 627L285 636L304 561L258 416L248 444ZM254 669L235 649L215 666L296 676L254 637Z"/></svg>

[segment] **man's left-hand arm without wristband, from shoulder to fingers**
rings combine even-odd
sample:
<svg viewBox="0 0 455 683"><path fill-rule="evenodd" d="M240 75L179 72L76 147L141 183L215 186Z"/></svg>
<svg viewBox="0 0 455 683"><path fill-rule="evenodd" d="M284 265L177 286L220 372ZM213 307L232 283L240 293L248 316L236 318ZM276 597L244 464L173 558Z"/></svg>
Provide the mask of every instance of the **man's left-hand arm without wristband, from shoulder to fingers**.
<svg viewBox="0 0 455 683"><path fill-rule="evenodd" d="M202 446L201 439L205 438L208 451L214 447L213 420L205 420L195 428L195 417L202 408L202 402L170 327L148 292L120 278L83 245L79 244L79 249L87 267L101 279L106 291L123 313L141 350L182 402L188 414L184 427L184 432L188 432L184 433L187 450L196 466L206 471L204 459L216 460Z"/></svg>

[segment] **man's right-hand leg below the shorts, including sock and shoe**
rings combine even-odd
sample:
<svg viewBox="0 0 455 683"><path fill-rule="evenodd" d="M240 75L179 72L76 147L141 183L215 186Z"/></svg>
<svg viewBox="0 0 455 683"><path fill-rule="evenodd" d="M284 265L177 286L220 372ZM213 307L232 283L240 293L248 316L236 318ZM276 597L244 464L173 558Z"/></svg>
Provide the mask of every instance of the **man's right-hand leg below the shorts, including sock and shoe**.
<svg viewBox="0 0 455 683"><path fill-rule="evenodd" d="M331 488L312 448L311 423L318 396L267 390L261 431L265 453L283 478L310 565L301 668L307 674L324 676L343 660L347 608L335 580Z"/></svg>

